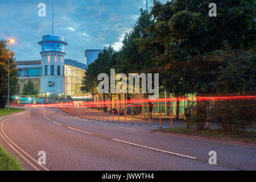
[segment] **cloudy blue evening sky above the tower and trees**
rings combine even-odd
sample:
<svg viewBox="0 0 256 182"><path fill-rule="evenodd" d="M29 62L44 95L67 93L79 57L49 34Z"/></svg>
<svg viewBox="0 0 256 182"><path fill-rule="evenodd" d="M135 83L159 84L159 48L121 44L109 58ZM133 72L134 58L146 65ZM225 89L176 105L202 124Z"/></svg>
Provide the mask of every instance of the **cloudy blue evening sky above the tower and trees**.
<svg viewBox="0 0 256 182"><path fill-rule="evenodd" d="M38 16L39 3L46 4L46 17ZM149 10L152 3L148 0ZM54 34L68 43L65 59L86 63L85 49L122 47L146 0L54 0L54 5ZM0 17L0 39L15 39L16 61L40 60L38 42L52 34L52 0L0 0Z"/></svg>

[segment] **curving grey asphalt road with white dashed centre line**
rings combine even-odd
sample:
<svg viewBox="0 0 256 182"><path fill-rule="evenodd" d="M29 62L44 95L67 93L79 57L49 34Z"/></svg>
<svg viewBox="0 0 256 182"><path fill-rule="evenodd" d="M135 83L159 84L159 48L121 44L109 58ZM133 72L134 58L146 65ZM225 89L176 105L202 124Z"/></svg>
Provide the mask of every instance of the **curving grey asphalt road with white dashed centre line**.
<svg viewBox="0 0 256 182"><path fill-rule="evenodd" d="M256 147L178 137L137 126L28 108L0 121L0 144L24 170L255 170ZM46 152L39 165L38 152ZM217 152L210 165L209 151Z"/></svg>

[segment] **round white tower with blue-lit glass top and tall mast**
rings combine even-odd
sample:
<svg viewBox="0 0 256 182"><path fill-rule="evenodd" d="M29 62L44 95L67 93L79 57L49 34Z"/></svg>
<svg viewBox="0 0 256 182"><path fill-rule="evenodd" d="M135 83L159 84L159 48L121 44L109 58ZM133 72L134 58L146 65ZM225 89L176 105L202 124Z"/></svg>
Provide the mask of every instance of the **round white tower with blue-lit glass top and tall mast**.
<svg viewBox="0 0 256 182"><path fill-rule="evenodd" d="M65 46L64 37L53 34L53 1L52 1L52 34L44 35L41 46L41 87L42 94L59 95L65 93Z"/></svg>

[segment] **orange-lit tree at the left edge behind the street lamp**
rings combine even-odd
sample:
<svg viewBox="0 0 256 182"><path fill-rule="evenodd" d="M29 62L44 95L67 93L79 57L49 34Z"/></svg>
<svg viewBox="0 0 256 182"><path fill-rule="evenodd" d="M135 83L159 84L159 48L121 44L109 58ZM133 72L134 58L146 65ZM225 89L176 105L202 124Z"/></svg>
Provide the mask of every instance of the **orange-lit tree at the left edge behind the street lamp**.
<svg viewBox="0 0 256 182"><path fill-rule="evenodd" d="M6 106L8 97L8 49L6 40L0 40L0 109ZM10 51L10 97L19 93L18 70L14 62L14 52Z"/></svg>

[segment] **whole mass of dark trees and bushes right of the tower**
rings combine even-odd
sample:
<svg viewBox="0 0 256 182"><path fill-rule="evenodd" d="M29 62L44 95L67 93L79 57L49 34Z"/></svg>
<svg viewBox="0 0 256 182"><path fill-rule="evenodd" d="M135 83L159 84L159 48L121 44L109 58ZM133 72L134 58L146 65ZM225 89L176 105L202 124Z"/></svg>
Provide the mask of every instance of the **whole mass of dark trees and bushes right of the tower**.
<svg viewBox="0 0 256 182"><path fill-rule="evenodd" d="M191 94L197 98L255 96L255 2L220 1L217 18L208 15L210 2L154 1L150 13L141 10L119 51L109 46L88 65L81 91L98 94L98 74L110 77L113 68L126 75L159 73L160 89L177 98L176 119L179 99ZM191 111L188 133L241 138L256 124L255 100L197 99L187 107ZM220 130L210 130L212 121Z"/></svg>

